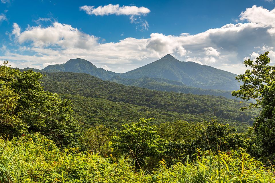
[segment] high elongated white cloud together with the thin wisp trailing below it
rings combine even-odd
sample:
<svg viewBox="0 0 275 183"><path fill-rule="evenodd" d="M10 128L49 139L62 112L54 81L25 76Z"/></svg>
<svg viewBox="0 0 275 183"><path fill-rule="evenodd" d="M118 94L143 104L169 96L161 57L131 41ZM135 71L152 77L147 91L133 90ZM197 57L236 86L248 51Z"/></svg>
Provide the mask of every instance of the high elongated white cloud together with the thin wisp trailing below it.
<svg viewBox="0 0 275 183"><path fill-rule="evenodd" d="M137 24L136 29L140 31L148 30L149 24L145 19L141 18L141 15L147 15L150 13L150 9L146 7L137 6L120 6L120 5L105 5L95 8L95 6L81 6L80 10L86 11L88 15L129 15L130 22Z"/></svg>

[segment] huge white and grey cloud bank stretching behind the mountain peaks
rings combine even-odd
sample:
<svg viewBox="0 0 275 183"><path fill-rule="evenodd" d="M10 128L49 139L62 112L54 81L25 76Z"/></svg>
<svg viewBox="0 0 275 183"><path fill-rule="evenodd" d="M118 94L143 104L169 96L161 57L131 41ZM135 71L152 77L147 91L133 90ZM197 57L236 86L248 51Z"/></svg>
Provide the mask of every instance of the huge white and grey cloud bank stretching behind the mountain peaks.
<svg viewBox="0 0 275 183"><path fill-rule="evenodd" d="M128 37L109 43L100 43L99 38L58 22L48 27L34 26L25 30L14 23L12 34L20 47L5 50L0 59L9 59L17 67L39 68L80 57L93 61L97 67L104 68L106 65L105 68L116 72L123 68L125 72L172 54L181 61L194 61L242 73L246 69L242 65L243 59L255 59L264 51L270 51L272 63L275 62L275 36L269 32L275 29L275 25L252 18L258 16L262 19L265 15L270 22L275 22L272 16L275 10L252 8L255 11L248 8L240 15L240 19L245 17L247 23L227 24L195 35L151 33L147 39ZM259 15L261 12L267 13ZM28 55L22 54L22 51L28 51Z"/></svg>

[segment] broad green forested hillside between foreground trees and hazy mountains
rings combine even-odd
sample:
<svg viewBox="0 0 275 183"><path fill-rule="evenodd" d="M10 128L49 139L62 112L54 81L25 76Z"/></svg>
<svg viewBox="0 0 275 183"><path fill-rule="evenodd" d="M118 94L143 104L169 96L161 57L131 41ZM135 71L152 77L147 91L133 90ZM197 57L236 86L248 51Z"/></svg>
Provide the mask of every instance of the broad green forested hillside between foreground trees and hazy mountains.
<svg viewBox="0 0 275 183"><path fill-rule="evenodd" d="M177 119L200 122L215 118L244 130L259 113L241 112L239 109L246 103L224 97L154 91L103 81L84 73L47 73L43 82L45 90L69 98L76 119L87 126L97 123L115 126L148 117L156 118L156 122Z"/></svg>

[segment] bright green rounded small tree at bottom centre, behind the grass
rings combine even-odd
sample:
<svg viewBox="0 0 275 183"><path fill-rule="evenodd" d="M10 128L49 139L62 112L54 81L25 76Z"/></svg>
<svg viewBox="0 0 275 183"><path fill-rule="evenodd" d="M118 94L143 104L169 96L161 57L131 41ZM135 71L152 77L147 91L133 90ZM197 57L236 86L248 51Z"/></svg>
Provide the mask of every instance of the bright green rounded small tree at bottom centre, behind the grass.
<svg viewBox="0 0 275 183"><path fill-rule="evenodd" d="M115 137L116 146L122 152L129 152L135 167L141 166L151 156L159 156L162 152L163 139L151 126L154 118L140 119L137 123L122 125L122 130Z"/></svg>

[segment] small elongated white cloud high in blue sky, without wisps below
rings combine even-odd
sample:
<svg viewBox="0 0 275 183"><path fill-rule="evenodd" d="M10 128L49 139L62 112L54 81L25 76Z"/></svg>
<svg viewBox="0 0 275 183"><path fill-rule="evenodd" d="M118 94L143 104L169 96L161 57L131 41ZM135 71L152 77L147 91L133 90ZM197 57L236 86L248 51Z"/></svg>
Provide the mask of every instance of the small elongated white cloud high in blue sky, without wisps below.
<svg viewBox="0 0 275 183"><path fill-rule="evenodd" d="M105 5L95 8L95 6L81 6L80 10L86 11L88 15L146 15L150 9L136 6Z"/></svg>

